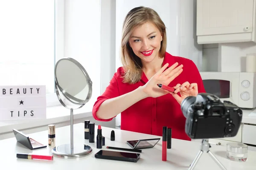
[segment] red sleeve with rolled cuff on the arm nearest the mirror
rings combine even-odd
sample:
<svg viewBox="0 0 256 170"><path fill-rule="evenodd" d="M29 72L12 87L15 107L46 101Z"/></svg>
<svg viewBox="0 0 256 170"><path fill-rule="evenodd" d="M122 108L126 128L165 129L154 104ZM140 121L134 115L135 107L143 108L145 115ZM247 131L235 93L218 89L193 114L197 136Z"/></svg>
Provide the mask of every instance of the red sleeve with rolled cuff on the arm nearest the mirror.
<svg viewBox="0 0 256 170"><path fill-rule="evenodd" d="M111 99L114 97L119 96L119 90L118 90L118 83L117 83L117 77L118 77L118 72L116 72L113 76L113 78L111 79L108 87L106 88L105 92L99 96L96 100L96 102L93 105L93 118L95 120L98 121L103 121L103 122L107 122L107 121L111 121L113 118L110 119L99 119L96 116L96 112L99 110L100 105L107 99Z"/></svg>

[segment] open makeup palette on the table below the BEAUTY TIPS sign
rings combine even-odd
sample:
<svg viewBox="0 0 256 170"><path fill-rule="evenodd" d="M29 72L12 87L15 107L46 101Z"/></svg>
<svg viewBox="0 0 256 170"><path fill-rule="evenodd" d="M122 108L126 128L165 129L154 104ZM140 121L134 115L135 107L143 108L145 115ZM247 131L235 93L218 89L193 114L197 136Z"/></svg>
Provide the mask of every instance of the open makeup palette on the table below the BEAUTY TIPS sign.
<svg viewBox="0 0 256 170"><path fill-rule="evenodd" d="M16 129L13 129L13 133L15 135L17 142L19 142L20 144L23 144L25 147L29 148L30 150L47 147L47 145L41 144L36 140L29 138L29 136L25 135L24 133Z"/></svg>

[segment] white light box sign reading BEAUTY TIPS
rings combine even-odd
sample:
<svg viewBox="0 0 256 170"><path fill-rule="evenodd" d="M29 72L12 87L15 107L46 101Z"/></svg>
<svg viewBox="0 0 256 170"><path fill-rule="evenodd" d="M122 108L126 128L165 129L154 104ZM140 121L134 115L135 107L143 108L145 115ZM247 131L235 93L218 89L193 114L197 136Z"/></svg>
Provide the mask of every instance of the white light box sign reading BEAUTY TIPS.
<svg viewBox="0 0 256 170"><path fill-rule="evenodd" d="M0 86L0 121L46 119L46 86Z"/></svg>

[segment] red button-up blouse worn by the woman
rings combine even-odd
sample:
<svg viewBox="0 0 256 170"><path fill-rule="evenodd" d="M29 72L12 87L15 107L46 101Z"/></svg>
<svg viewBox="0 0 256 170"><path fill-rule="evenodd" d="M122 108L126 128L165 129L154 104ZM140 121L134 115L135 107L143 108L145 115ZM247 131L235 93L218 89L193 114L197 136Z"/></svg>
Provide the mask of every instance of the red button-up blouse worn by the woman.
<svg viewBox="0 0 256 170"><path fill-rule="evenodd" d="M198 93L205 93L203 81L199 74L195 63L183 57L172 56L166 52L163 60L163 65L169 63L169 66L178 62L183 64L183 72L176 77L170 84L170 87L196 82L198 84ZM134 91L139 86L143 86L148 82L147 77L143 73L139 82L135 84L123 83L121 75L123 68L117 69L110 84L105 92L97 98L93 106L93 118L98 121L111 121L111 119L99 119L96 112L99 106L107 99L111 99L128 92ZM147 97L135 103L121 113L121 129L139 133L147 133L157 136L162 136L163 126L172 128L172 138L191 140L185 133L186 118L180 109L180 104L173 98L171 94L166 94L157 98Z"/></svg>

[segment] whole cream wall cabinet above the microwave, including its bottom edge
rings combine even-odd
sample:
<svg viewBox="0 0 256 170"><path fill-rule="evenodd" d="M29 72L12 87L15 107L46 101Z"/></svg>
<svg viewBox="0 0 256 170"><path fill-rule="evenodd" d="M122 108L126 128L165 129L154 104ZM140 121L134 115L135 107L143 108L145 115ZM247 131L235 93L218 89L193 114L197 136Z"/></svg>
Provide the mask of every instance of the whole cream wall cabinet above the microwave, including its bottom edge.
<svg viewBox="0 0 256 170"><path fill-rule="evenodd" d="M256 42L256 0L197 0L198 44Z"/></svg>

